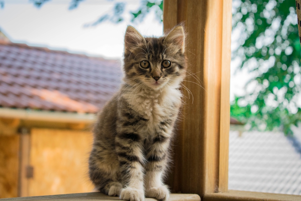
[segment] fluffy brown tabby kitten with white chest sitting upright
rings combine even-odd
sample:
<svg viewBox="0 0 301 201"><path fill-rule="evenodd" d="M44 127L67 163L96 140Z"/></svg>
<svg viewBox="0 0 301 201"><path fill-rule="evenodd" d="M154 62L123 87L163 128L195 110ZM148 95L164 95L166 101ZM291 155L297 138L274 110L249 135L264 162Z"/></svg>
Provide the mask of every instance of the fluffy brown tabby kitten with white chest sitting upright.
<svg viewBox="0 0 301 201"><path fill-rule="evenodd" d="M169 198L162 177L182 106L184 51L182 26L159 38L127 27L124 84L98 115L89 158L90 179L101 192L130 201Z"/></svg>

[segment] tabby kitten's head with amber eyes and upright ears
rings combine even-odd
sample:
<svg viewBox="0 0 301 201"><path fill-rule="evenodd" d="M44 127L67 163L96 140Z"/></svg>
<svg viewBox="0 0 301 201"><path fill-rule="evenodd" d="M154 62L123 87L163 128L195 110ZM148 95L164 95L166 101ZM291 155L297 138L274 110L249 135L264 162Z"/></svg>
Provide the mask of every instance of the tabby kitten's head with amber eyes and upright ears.
<svg viewBox="0 0 301 201"><path fill-rule="evenodd" d="M164 86L177 88L187 68L184 52L182 26L159 38L144 38L134 27L128 26L124 37L124 81L154 90Z"/></svg>

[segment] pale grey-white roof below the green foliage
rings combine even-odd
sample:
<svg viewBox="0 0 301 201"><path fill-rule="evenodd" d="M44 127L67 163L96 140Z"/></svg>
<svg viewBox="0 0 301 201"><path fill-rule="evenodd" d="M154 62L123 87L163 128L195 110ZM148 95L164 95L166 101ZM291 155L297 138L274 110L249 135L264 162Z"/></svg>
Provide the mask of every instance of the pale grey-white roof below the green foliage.
<svg viewBox="0 0 301 201"><path fill-rule="evenodd" d="M230 131L229 189L301 195L300 134Z"/></svg>

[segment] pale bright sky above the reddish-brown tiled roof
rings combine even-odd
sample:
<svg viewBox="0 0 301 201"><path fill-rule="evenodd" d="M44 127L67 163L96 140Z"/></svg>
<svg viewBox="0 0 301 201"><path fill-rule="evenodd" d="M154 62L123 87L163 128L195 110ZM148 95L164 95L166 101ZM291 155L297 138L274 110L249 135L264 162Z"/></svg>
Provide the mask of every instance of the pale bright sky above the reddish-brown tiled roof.
<svg viewBox="0 0 301 201"><path fill-rule="evenodd" d="M116 1L85 0L69 10L71 0L51 0L37 8L29 0L4 0L0 9L0 29L13 42L43 46L104 58L120 58L127 25L143 35L162 35L163 24L150 13L143 22L132 23L129 11L140 1L127 1L125 20L119 24L103 22L84 27L112 10Z"/></svg>

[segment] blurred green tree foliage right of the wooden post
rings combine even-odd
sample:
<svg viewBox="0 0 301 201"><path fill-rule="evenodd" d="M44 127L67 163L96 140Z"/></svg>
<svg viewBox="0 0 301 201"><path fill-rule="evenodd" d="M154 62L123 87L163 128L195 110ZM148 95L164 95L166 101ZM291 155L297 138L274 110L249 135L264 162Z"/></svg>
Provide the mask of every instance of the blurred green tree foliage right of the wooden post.
<svg viewBox="0 0 301 201"><path fill-rule="evenodd" d="M295 0L239 0L233 4L232 33L241 27L245 35L232 51L232 60L241 58L241 68L254 78L246 84L246 94L231 103L231 116L248 129L292 134L291 126L301 120Z"/></svg>

